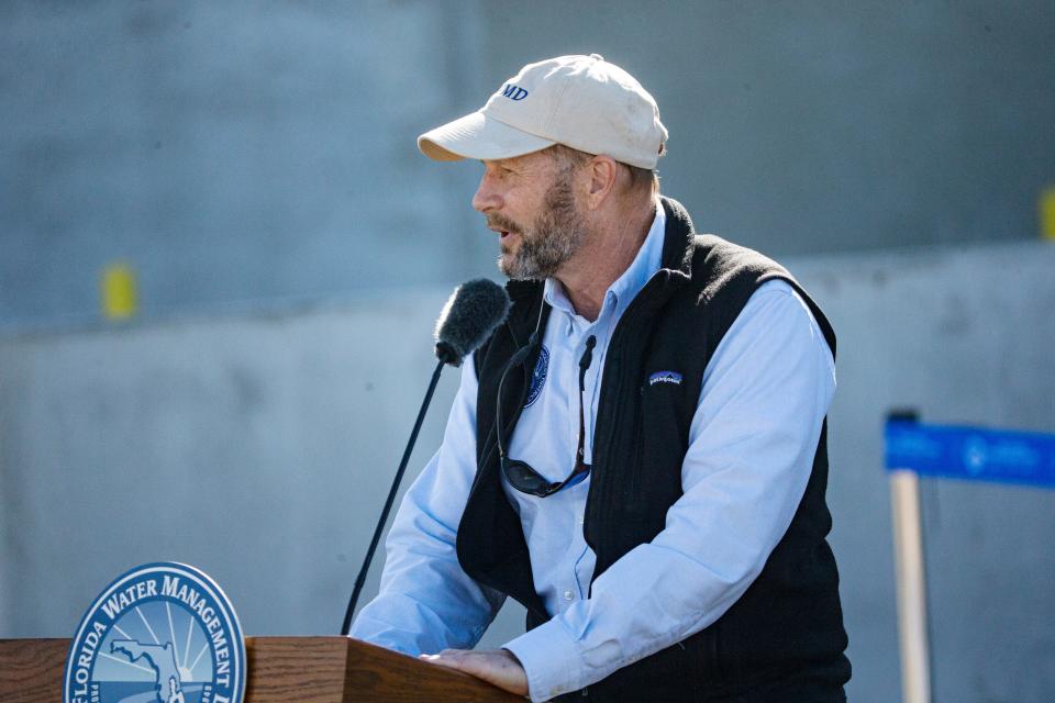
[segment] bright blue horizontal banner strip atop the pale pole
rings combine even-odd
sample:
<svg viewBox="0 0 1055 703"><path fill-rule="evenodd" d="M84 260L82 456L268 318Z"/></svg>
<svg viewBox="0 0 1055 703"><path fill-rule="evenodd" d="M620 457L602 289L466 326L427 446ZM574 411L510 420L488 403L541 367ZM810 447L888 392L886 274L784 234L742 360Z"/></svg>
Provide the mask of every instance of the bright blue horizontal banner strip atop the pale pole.
<svg viewBox="0 0 1055 703"><path fill-rule="evenodd" d="M890 420L887 469L1055 488L1055 435Z"/></svg>

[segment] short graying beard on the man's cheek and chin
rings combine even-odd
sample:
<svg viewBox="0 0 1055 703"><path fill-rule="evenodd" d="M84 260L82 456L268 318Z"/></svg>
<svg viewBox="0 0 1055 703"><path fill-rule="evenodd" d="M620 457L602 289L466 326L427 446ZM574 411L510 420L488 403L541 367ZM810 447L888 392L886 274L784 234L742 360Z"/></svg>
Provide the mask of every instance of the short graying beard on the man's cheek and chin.
<svg viewBox="0 0 1055 703"><path fill-rule="evenodd" d="M520 248L498 258L499 270L513 280L542 280L556 276L586 239L586 224L575 208L568 174L549 187L542 214L520 235Z"/></svg>

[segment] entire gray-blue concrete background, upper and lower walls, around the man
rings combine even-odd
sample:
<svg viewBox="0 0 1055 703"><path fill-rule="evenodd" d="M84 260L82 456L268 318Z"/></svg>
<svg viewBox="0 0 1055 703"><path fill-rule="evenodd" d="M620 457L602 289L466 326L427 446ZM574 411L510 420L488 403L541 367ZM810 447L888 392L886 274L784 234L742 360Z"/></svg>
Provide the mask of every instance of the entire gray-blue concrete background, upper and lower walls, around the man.
<svg viewBox="0 0 1055 703"><path fill-rule="evenodd" d="M1055 432L1053 44L1050 2L3 3L0 637L69 636L156 559L216 578L249 634L335 632L434 316L497 275L479 166L414 137L599 52L660 104L664 190L840 334L849 693L898 700L884 414ZM115 260L142 293L121 325ZM923 499L935 700L1050 701L1055 494Z"/></svg>

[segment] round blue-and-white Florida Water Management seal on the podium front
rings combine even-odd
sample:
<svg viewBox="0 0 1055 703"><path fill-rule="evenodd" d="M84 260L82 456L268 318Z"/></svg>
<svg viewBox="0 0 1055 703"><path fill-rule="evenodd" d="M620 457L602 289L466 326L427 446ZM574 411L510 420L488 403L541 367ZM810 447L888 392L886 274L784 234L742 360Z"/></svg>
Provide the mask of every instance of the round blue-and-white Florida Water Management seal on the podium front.
<svg viewBox="0 0 1055 703"><path fill-rule="evenodd" d="M242 703L245 640L212 579L145 563L88 609L63 678L64 703Z"/></svg>

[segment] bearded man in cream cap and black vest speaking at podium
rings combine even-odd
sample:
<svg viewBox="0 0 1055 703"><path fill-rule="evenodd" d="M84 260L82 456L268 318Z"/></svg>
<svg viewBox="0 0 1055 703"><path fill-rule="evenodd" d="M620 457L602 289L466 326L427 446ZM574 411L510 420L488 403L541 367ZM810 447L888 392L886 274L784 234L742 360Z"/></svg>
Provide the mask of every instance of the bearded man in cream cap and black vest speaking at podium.
<svg viewBox="0 0 1055 703"><path fill-rule="evenodd" d="M352 635L533 701L845 701L835 337L782 267L659 196L666 138L593 54L530 64L418 140L482 161L473 207L513 305ZM507 596L528 632L469 650Z"/></svg>

